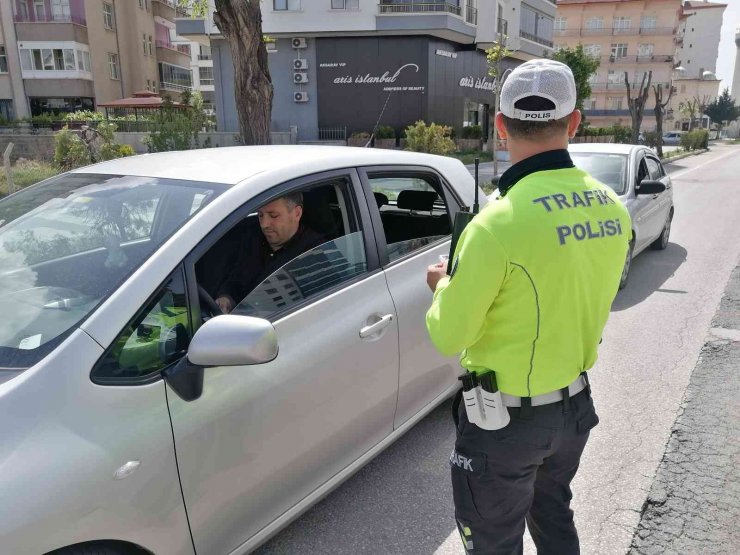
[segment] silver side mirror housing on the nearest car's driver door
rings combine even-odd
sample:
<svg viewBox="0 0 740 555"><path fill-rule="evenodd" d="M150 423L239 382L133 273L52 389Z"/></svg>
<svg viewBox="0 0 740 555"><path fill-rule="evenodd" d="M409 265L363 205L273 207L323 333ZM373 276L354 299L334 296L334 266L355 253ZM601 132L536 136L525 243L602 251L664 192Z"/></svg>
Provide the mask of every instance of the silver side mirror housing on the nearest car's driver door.
<svg viewBox="0 0 740 555"><path fill-rule="evenodd" d="M267 320L224 314L211 318L193 336L188 361L196 366L248 366L277 357L275 328Z"/></svg>

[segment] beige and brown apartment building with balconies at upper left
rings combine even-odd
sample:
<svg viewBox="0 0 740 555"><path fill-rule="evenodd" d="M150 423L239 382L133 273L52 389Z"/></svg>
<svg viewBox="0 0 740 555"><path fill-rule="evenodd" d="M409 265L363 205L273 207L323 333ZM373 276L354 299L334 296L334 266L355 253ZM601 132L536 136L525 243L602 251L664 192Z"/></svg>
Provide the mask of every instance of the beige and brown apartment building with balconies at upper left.
<svg viewBox="0 0 740 555"><path fill-rule="evenodd" d="M192 85L178 15L175 0L0 2L0 111L12 119L142 90L178 95Z"/></svg>

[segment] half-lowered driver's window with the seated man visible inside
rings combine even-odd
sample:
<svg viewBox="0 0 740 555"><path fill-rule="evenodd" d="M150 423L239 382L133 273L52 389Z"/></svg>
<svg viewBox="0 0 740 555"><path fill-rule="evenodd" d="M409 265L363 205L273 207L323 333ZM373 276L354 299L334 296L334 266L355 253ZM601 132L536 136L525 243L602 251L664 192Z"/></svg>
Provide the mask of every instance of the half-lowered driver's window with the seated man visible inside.
<svg viewBox="0 0 740 555"><path fill-rule="evenodd" d="M342 176L276 194L198 260L198 284L222 309L268 318L366 272L352 190Z"/></svg>

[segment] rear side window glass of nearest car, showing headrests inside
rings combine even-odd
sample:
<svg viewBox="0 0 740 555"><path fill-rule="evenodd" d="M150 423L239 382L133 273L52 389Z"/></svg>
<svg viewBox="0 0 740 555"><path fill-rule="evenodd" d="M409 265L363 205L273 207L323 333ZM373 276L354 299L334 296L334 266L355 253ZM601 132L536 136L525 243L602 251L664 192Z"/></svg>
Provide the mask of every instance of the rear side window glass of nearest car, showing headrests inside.
<svg viewBox="0 0 740 555"><path fill-rule="evenodd" d="M383 224L389 261L451 234L450 212L435 177L394 172L368 174Z"/></svg>

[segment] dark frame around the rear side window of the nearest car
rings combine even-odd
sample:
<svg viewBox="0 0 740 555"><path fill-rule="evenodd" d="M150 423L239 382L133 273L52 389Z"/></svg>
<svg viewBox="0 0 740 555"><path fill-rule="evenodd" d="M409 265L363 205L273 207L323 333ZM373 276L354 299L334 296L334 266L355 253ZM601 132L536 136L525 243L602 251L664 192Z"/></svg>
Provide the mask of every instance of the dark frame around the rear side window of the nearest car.
<svg viewBox="0 0 740 555"><path fill-rule="evenodd" d="M360 180L362 181L363 192L365 193L365 200L370 209L373 229L375 230L375 241L377 245L378 256L380 258L380 265L383 268L389 268L389 267L395 266L396 264L399 264L405 260L408 260L409 258L418 256L419 254L426 252L440 245L441 243L445 241L450 240L450 238L452 237L452 233L450 233L449 237L445 236L442 239L432 241L431 243L425 245L424 247L420 249L413 250L411 252L404 254L403 256L395 258L394 260L390 260L388 256L388 245L387 245L386 237L385 237L385 228L383 227L383 222L380 218L380 210L378 209L377 202L375 201L375 196L373 195L373 187L370 182L369 174L396 173L397 172L399 174L402 174L402 177L416 177L419 179L428 179L431 177L432 179L436 180L437 184L441 187L442 192L444 193L444 201L447 206L448 215L450 217L450 231L452 230L453 225L454 225L455 215L460 211L460 209L464 205L462 203L462 200L460 199L460 196L455 191L455 188L449 184L449 182L442 176L442 174L440 174L436 169L429 167L429 166L419 166L419 165L362 166L358 168L358 172L360 175Z"/></svg>

